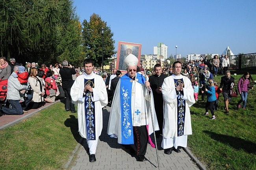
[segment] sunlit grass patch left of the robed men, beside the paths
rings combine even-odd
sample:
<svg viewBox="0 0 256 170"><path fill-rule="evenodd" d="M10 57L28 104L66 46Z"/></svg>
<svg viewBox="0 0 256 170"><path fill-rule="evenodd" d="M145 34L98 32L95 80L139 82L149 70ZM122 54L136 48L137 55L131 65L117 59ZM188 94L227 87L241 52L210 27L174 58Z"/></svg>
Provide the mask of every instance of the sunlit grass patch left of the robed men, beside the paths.
<svg viewBox="0 0 256 170"><path fill-rule="evenodd" d="M0 169L63 169L80 139L76 117L58 102L1 130Z"/></svg>

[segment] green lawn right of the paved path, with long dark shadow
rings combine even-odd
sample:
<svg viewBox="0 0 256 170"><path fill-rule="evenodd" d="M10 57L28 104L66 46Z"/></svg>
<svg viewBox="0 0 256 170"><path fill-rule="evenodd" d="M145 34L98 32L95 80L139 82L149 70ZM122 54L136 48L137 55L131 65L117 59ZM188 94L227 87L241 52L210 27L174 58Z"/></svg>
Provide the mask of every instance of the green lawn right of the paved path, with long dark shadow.
<svg viewBox="0 0 256 170"><path fill-rule="evenodd" d="M238 79L242 75L231 75ZM256 80L256 75L252 75ZM220 84L221 76L214 77ZM256 88L256 86L255 86ZM201 96L199 96L199 101ZM223 96L220 94L216 120L209 120L205 103L199 102L191 108L193 134L188 138L192 153L208 170L255 170L256 169L256 90L248 92L246 110L237 109L240 96L229 104L229 113L224 113Z"/></svg>

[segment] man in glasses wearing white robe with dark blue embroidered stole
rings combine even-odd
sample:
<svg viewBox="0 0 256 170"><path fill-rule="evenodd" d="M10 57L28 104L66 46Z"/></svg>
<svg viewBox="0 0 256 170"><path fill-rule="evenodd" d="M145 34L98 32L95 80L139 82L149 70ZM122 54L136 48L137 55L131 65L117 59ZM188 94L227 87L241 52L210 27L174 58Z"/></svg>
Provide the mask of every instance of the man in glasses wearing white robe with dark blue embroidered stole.
<svg viewBox="0 0 256 170"><path fill-rule="evenodd" d="M163 140L161 147L165 154L180 152L187 147L187 135L192 135L189 107L195 103L191 81L180 74L182 65L173 63L173 75L164 79L163 94Z"/></svg>

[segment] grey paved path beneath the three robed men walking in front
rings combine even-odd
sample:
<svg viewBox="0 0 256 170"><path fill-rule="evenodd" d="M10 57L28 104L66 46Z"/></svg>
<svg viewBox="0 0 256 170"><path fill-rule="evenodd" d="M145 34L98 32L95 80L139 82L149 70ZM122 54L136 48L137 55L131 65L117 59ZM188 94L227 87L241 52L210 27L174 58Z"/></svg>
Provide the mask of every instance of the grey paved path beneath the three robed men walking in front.
<svg viewBox="0 0 256 170"><path fill-rule="evenodd" d="M164 154L161 148L161 137L157 139L160 168L158 168L156 149L152 148L150 144L148 144L145 155L148 161L137 162L135 157L128 154L121 144L117 144L117 139L107 135L109 111L110 107L108 106L103 110L103 129L95 154L97 161L95 163L89 162L89 152L86 152L87 143L86 140L83 140L69 165L69 170L199 170L197 164L183 149L181 149L181 153Z"/></svg>

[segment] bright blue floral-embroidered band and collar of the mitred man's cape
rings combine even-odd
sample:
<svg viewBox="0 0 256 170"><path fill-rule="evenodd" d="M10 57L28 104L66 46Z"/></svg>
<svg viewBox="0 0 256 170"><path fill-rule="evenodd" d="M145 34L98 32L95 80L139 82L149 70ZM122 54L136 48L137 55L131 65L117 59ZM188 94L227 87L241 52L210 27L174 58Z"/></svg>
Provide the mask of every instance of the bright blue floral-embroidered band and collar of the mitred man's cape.
<svg viewBox="0 0 256 170"><path fill-rule="evenodd" d="M145 77L141 74L136 74L135 81L145 84ZM120 78L120 102L122 144L134 144L132 129L132 79L128 76L128 73Z"/></svg>

